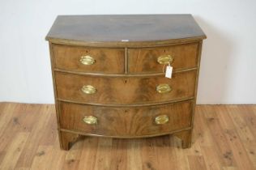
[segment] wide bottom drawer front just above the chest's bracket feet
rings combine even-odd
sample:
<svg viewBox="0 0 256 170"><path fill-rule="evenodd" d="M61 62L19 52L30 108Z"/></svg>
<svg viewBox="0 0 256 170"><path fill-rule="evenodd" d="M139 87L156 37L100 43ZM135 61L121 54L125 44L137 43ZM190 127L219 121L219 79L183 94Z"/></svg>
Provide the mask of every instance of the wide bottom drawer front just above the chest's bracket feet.
<svg viewBox="0 0 256 170"><path fill-rule="evenodd" d="M190 127L193 100L150 107L116 108L61 102L61 128L85 134L140 137Z"/></svg>

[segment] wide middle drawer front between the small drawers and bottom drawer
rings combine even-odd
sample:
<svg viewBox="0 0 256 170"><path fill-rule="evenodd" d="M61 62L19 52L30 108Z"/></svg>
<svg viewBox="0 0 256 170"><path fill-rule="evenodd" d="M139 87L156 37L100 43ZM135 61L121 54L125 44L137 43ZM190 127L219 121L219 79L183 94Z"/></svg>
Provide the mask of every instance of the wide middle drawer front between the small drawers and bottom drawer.
<svg viewBox="0 0 256 170"><path fill-rule="evenodd" d="M196 70L173 74L172 79L164 78L164 75L100 77L55 74L59 99L96 104L142 104L194 97L195 77Z"/></svg>

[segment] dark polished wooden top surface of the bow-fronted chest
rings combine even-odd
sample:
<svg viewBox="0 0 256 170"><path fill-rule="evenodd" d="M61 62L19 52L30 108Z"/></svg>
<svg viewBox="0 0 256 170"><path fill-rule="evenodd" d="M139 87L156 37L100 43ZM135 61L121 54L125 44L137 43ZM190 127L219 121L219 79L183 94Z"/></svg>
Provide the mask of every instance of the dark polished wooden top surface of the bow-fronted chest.
<svg viewBox="0 0 256 170"><path fill-rule="evenodd" d="M46 40L129 45L205 37L192 15L60 15Z"/></svg>

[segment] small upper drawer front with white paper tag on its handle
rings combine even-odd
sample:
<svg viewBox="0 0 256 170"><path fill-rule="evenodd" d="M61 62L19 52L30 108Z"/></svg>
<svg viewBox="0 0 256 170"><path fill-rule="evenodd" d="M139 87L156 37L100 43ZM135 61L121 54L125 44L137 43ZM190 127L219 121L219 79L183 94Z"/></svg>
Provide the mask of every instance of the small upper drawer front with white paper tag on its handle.
<svg viewBox="0 0 256 170"><path fill-rule="evenodd" d="M190 69L197 66L198 43L156 48L128 49L128 70L131 74L159 73L163 64L158 60L168 57L173 70Z"/></svg>

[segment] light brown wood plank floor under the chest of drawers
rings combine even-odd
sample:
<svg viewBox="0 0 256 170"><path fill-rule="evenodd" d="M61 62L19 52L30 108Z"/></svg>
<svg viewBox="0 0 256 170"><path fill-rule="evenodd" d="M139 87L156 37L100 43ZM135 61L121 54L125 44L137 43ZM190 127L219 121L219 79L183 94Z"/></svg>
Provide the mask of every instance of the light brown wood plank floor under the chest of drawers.
<svg viewBox="0 0 256 170"><path fill-rule="evenodd" d="M86 137L61 151L53 104L0 103L0 169L256 169L256 105L198 105L193 144Z"/></svg>

